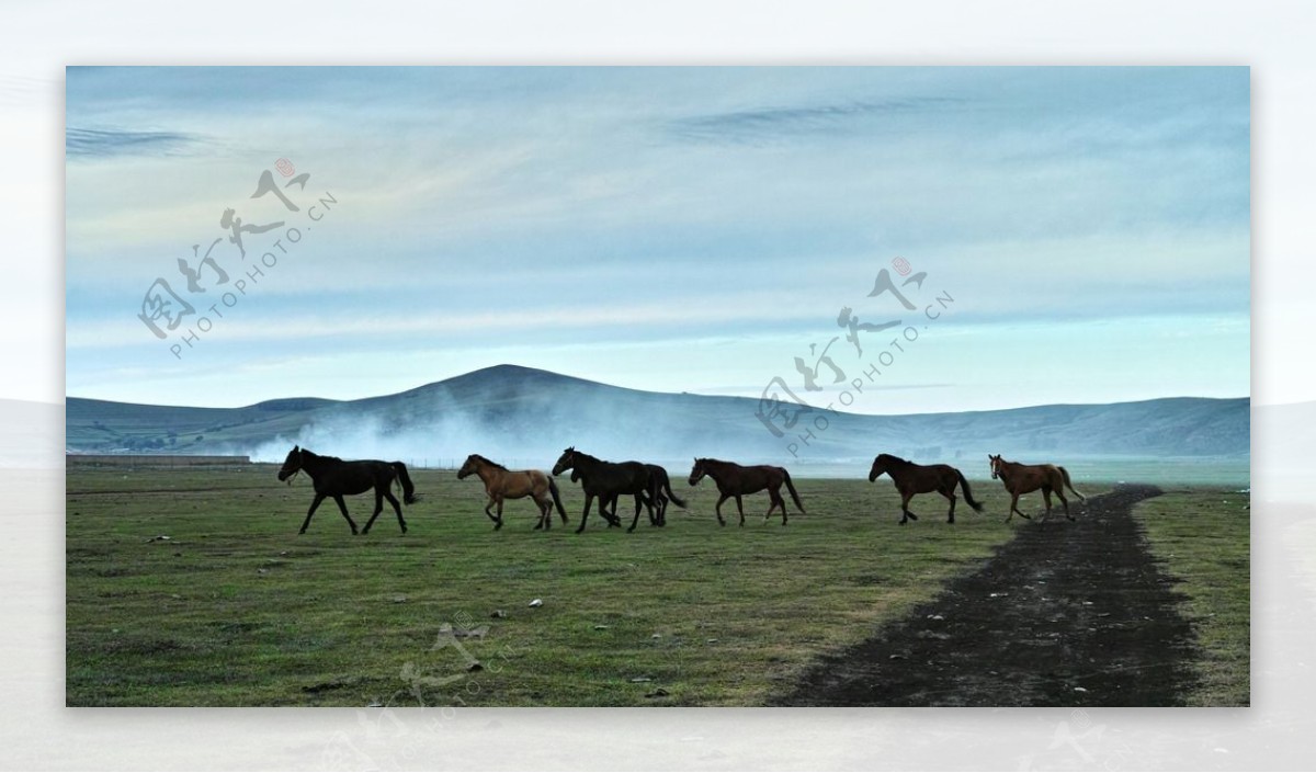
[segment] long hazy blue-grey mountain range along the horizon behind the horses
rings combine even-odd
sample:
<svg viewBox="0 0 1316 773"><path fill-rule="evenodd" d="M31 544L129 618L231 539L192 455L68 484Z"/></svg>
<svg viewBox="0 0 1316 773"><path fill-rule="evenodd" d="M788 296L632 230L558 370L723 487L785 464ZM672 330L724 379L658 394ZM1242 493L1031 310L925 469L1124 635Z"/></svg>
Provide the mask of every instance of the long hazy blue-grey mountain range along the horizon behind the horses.
<svg viewBox="0 0 1316 773"><path fill-rule="evenodd" d="M67 400L67 446L84 452L250 454L282 460L293 443L340 456L465 457L479 451L549 464L574 444L611 457L684 461L850 461L888 451L917 460L1000 452L1024 459L1246 459L1249 398L1174 397L921 415L828 413L805 446L776 438L745 397L609 386L517 365L484 368L365 400L272 400L234 409ZM804 414L799 433L819 413ZM796 434L796 433L792 433Z"/></svg>

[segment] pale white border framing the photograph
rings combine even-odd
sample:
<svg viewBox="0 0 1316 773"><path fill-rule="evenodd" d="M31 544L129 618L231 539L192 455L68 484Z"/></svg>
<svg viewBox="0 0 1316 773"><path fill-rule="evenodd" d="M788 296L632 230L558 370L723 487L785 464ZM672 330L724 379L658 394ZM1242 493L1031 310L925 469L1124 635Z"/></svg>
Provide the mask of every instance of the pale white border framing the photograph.
<svg viewBox="0 0 1316 773"><path fill-rule="evenodd" d="M66 64L758 63L1250 64L1254 397L1286 400L1304 364L1302 304L1316 158L1313 12L1245 3L388 3L271 0L7 5L0 26L5 309L24 331L0 396L63 400ZM17 79L17 80L14 80ZM32 79L32 80L28 80ZM17 85L12 85L17 84ZM13 285L21 285L14 291ZM38 304L34 316L20 297ZM1302 333L1303 335L1299 335ZM1290 351L1284 346L1290 344ZM1303 351L1305 350L1305 351ZM1290 355L1290 356L1286 356ZM21 359L17 359L21 358ZM17 362L16 362L17 360ZM1296 363L1296 364L1295 364ZM1287 379L1287 381L1286 381ZM3 383L0 383L3 384ZM1305 397L1316 397L1316 386ZM59 427L62 430L62 427ZM1288 427L1286 431L1302 431ZM61 443L57 430L51 442ZM1257 468L1270 438L1254 433ZM1299 450L1296 467L1316 467ZM1305 454L1305 461L1302 459ZM1290 459L1290 461L1294 461ZM9 476L4 481L12 480ZM1299 501L1295 476L1258 500ZM63 479L4 501L0 765L249 768L1302 768L1311 764L1316 511L1258 501L1249 710L463 710L401 735L353 710L63 709ZM1075 744L1057 731L1087 730ZM1069 723L1069 724L1065 724ZM395 728L397 726L393 726ZM1082 732L1082 731L1079 731ZM340 748L346 743L355 749ZM359 752L359 756L357 756ZM407 755L409 752L409 756Z"/></svg>

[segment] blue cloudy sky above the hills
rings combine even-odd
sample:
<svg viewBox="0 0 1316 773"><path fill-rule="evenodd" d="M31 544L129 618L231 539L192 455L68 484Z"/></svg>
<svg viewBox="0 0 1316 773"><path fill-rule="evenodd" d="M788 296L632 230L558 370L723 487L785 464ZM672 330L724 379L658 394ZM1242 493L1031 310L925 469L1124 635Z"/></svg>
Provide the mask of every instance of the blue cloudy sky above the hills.
<svg viewBox="0 0 1316 773"><path fill-rule="evenodd" d="M1248 396L1249 101L1242 67L71 67L66 392ZM283 225L242 256L228 209Z"/></svg>

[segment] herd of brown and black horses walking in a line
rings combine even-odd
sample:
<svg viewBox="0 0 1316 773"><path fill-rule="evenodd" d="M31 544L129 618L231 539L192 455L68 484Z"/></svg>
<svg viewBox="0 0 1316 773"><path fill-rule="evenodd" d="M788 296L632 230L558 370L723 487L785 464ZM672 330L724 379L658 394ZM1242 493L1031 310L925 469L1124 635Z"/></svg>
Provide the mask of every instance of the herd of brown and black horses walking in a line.
<svg viewBox="0 0 1316 773"><path fill-rule="evenodd" d="M1005 490L1011 494L1009 514L1005 517L1007 522L1013 518L1015 513L1019 513L1024 518L1030 518L1019 510L1019 497L1036 490L1042 492L1042 498L1046 502L1045 519L1049 519L1051 515L1053 493L1059 497L1061 505L1065 509L1065 517L1070 521L1074 521L1074 517L1070 515L1065 489L1069 489L1080 502L1087 501L1083 494L1074 489L1074 485L1070 482L1069 471L1063 467L1054 464L1020 464L1017 461L1007 461L999 455L988 455L988 459L991 460L992 480L1000 480ZM563 525L570 521L566 507L562 506L558 484L554 480L555 476L569 469L571 471L571 482L579 482L580 489L584 492L584 511L580 514L580 526L576 527L576 534L584 531L595 500L599 502L599 517L607 521L608 526L621 526L621 519L617 517L617 504L622 496L633 497L636 514L630 521L628 531L636 530L636 525L640 523L641 510L649 514L650 525L665 526L667 523L669 504L675 504L678 507L686 506L686 502L672 492L671 479L661 465L645 464L642 461L604 461L583 451L576 451L574 447L562 452L557 464L553 465L551 473L538 469L512 471L479 454L471 454L457 472L457 477L465 480L474 475L484 484L484 493L488 496L488 502L484 505L484 514L494 522L495 530L503 528L504 502L525 497L534 501L540 513L538 523L536 523L534 528L546 530L553 526L554 509L562 518ZM287 459L283 460L283 467L279 468L279 480L287 481L291 485L292 479L301 472L305 472L311 477L315 488L315 498L311 501L311 509L307 510L307 518L301 523L300 534L305 534L307 527L311 526L311 517L316 514L316 507L326 498L333 498L338 505L338 510L342 511L342 517L347 521L347 526L351 527L351 532L358 534L357 523L347 514L347 505L343 502L343 497L363 494L371 489L375 493L375 511L370 515L370 521L366 522L359 534L370 531L370 527L375 523L375 518L379 518L379 514L383 513L386 500L397 514L397 526L401 527L403 534L407 532L407 521L403 518L401 504L392 493L393 484L396 482L401 486L403 502L411 505L418 497L416 496L416 486L407 472L407 465L401 461L379 461L374 459L345 461L337 456L321 456L300 446L295 446L288 452ZM982 513L982 502L974 500L969 481L963 473L949 464L915 464L899 456L879 454L873 460L873 468L869 471L869 481L876 481L882 475L890 476L895 482L896 490L900 493L900 525L919 519L917 515L909 511L909 500L916 494L928 493L938 493L950 502L946 522L954 523L957 488L963 494L965 501L969 502L969 506L975 513ZM799 511L805 511L804 504L800 502L800 494L795 490L795 484L791 482L791 473L782 467L769 464L746 467L719 459L695 459L695 465L690 471L690 485L699 485L699 481L704 477L712 479L717 486L720 496L713 510L717 514L717 523L721 526L726 526L726 521L722 518L722 504L726 500L736 500L740 525L745 526L745 507L741 497L757 494L763 490L767 492L770 501L763 521L766 522L774 510L780 509L782 526L786 526L787 509L786 500L782 497L782 486L786 486Z"/></svg>

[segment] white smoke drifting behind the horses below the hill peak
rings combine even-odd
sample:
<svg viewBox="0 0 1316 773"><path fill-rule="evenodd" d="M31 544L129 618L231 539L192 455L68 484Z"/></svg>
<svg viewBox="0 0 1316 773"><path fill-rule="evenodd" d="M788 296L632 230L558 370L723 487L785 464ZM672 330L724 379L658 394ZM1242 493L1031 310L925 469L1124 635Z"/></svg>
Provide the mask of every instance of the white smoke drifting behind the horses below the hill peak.
<svg viewBox="0 0 1316 773"><path fill-rule="evenodd" d="M454 467L480 454L511 468L549 469L562 451L600 459L638 459L683 473L695 456L744 464L783 464L783 444L745 411L690 408L688 400L597 385L559 384L528 390L511 384L482 393L430 385L374 401L325 409L295 433L237 450L254 461L282 463L293 446L342 459L382 459ZM666 409L665 409L666 408Z"/></svg>

